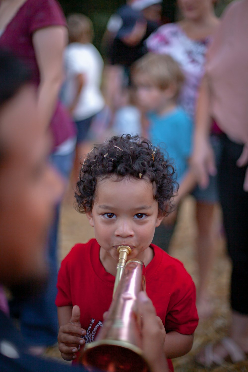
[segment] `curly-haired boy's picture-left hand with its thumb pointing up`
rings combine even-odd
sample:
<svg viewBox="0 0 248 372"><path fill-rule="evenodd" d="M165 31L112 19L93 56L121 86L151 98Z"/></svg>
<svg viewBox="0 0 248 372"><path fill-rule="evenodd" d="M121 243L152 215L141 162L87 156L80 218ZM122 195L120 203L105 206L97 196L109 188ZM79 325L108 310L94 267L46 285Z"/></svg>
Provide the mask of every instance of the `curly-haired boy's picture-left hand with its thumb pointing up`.
<svg viewBox="0 0 248 372"><path fill-rule="evenodd" d="M79 346L85 343L84 339L82 339L85 334L86 331L81 328L80 323L80 308L75 305L73 306L70 321L59 327L58 347L64 360L75 359Z"/></svg>

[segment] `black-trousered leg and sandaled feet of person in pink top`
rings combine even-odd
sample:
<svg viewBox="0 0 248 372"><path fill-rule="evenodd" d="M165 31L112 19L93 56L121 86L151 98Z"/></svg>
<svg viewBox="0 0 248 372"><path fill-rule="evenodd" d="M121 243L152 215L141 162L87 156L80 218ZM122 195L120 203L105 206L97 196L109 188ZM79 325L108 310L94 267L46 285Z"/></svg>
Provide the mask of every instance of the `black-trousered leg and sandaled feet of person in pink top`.
<svg viewBox="0 0 248 372"><path fill-rule="evenodd" d="M223 211L228 254L232 260L231 309L228 342L237 346L241 353L248 353L248 193L243 190L246 167L238 168L236 161L242 146L223 139L223 155L219 169L220 202ZM206 364L207 349L197 356ZM238 351L236 352L237 355ZM212 360L230 355L228 345L221 340L211 352ZM243 354L244 355L244 354ZM234 358L233 358L234 359Z"/></svg>

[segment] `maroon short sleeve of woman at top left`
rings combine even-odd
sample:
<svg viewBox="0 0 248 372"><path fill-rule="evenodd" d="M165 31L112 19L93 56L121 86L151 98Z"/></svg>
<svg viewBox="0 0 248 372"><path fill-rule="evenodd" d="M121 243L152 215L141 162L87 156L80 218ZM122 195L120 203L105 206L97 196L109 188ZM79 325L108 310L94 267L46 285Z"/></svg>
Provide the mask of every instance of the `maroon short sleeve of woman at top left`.
<svg viewBox="0 0 248 372"><path fill-rule="evenodd" d="M66 26L66 20L57 0L35 0L31 4L32 16L29 20L29 32L49 26Z"/></svg>

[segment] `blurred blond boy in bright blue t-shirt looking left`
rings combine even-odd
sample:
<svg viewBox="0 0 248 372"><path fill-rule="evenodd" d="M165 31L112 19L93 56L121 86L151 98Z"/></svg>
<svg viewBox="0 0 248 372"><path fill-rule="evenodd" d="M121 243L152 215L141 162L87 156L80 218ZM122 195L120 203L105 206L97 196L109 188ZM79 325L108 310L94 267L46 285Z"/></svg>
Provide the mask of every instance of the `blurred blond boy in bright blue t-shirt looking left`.
<svg viewBox="0 0 248 372"><path fill-rule="evenodd" d="M184 82L183 73L169 55L148 53L133 66L132 80L136 88L136 100L148 112L148 132L152 144L155 147L166 147L168 155L174 160L177 182L180 185L174 199L177 206L196 183L188 165L193 123L177 105L177 97ZM168 250L174 230L175 215L176 212L173 212L165 218L155 231L153 242L165 251Z"/></svg>

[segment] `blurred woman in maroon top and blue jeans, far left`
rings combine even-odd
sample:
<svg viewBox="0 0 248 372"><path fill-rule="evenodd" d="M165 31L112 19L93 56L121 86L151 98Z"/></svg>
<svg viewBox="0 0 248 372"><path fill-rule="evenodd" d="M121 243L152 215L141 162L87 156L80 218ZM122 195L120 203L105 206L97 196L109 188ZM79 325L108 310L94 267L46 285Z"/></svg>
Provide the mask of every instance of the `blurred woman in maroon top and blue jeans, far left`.
<svg viewBox="0 0 248 372"><path fill-rule="evenodd" d="M76 139L74 123L58 101L64 77L63 52L68 37L62 9L57 0L1 0L0 30L0 48L15 53L31 70L43 130L49 128L52 134L51 162L68 179ZM20 331L35 354L42 354L46 346L57 341L58 320L54 301L58 220L59 203L47 242L50 275L46 291L25 304L15 299L10 304L10 313L20 318Z"/></svg>

